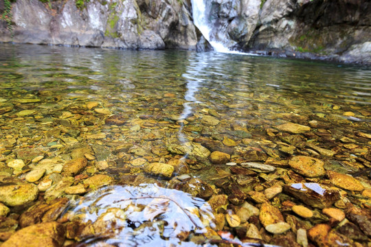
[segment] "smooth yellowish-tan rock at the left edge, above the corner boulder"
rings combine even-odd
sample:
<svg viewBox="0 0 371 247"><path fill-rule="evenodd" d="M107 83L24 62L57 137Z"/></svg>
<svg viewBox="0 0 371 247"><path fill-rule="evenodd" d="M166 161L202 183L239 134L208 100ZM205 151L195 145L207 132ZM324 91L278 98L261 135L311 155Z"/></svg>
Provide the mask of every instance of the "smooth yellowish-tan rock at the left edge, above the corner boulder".
<svg viewBox="0 0 371 247"><path fill-rule="evenodd" d="M0 189L0 202L10 207L32 202L37 196L38 189L33 184L5 185Z"/></svg>

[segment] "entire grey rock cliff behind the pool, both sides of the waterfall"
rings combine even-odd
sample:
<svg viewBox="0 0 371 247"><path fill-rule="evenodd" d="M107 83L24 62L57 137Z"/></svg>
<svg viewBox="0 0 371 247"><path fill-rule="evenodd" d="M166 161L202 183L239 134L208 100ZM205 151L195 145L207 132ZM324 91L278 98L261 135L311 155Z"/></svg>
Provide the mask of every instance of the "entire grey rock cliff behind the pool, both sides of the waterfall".
<svg viewBox="0 0 371 247"><path fill-rule="evenodd" d="M262 54L371 64L368 0L203 0L210 38ZM190 1L14 1L14 42L123 49L198 49ZM31 11L30 11L31 10ZM3 13L0 5L0 14ZM0 20L0 41L12 34ZM197 43L199 40L199 43ZM205 48L206 47L206 48Z"/></svg>

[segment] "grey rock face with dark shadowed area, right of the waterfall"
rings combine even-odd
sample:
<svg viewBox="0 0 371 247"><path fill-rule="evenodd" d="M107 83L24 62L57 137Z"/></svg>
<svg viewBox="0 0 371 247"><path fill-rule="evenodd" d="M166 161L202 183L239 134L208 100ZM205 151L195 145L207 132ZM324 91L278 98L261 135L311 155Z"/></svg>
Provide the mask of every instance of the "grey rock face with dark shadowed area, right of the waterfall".
<svg viewBox="0 0 371 247"><path fill-rule="evenodd" d="M211 38L226 47L300 58L371 63L367 0L206 2Z"/></svg>

